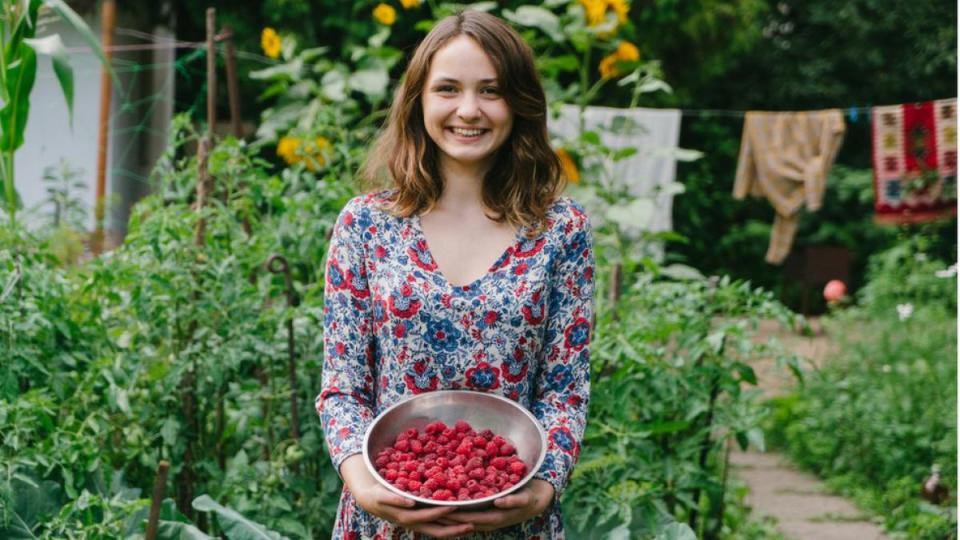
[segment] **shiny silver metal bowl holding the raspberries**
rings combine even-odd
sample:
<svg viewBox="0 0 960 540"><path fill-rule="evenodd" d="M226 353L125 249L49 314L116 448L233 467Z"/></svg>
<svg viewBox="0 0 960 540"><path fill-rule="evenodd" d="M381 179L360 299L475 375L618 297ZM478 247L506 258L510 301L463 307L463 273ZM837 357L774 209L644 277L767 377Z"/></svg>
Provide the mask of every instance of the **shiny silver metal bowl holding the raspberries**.
<svg viewBox="0 0 960 540"><path fill-rule="evenodd" d="M403 491L381 477L373 465L372 456L392 445L402 431L410 428L423 431L427 424L435 420L447 425L466 420L477 431L489 429L507 439L529 467L526 476L509 489L469 501L426 499ZM505 397L468 390L440 390L401 401L374 418L363 437L363 461L370 474L387 489L416 501L418 506L488 507L494 499L516 491L529 482L540 470L546 454L547 435L530 411Z"/></svg>

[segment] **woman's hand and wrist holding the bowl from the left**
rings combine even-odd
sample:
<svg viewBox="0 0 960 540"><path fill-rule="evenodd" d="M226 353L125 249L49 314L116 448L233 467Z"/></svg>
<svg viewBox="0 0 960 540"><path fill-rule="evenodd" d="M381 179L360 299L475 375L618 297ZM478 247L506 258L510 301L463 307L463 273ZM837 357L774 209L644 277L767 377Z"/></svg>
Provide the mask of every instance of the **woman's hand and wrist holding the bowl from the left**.
<svg viewBox="0 0 960 540"><path fill-rule="evenodd" d="M452 507L413 509L414 501L383 487L367 471L363 457L350 456L340 465L340 475L353 498L367 512L412 531L436 538L452 538L473 532L474 526L463 522L441 522L453 512Z"/></svg>

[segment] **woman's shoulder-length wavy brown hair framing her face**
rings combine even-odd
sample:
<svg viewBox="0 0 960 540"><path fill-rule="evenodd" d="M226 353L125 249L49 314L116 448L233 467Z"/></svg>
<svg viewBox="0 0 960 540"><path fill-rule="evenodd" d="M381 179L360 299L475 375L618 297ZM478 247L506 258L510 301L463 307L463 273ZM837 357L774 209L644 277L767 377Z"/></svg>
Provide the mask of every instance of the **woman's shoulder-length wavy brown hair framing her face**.
<svg viewBox="0 0 960 540"><path fill-rule="evenodd" d="M466 35L490 57L500 91L514 115L513 129L483 179L483 204L498 223L543 231L547 209L563 188L560 160L547 135L547 103L533 52L507 23L480 11L439 21L417 47L403 82L361 169L368 188L393 188L386 210L410 217L434 207L443 192L438 149L423 120L423 89L436 52Z"/></svg>

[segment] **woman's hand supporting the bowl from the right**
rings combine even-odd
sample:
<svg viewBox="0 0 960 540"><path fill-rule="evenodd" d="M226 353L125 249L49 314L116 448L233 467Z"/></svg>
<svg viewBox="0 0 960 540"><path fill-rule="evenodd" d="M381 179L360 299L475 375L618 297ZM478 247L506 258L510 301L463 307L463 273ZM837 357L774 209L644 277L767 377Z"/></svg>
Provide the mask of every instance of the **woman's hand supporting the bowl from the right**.
<svg viewBox="0 0 960 540"><path fill-rule="evenodd" d="M533 479L523 488L493 501L494 510L454 512L441 519L442 523L470 523L477 531L494 531L522 523L542 514L553 502L553 485Z"/></svg>

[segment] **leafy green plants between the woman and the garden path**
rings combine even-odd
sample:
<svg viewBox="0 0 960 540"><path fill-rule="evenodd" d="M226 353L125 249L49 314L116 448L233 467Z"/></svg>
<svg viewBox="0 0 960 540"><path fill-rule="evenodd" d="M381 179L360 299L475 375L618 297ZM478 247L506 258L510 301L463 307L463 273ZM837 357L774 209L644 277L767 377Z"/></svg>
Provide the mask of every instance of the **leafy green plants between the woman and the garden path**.
<svg viewBox="0 0 960 540"><path fill-rule="evenodd" d="M752 329L792 315L747 283L635 275L598 321L590 422L564 504L578 531L624 524L636 537L666 515L716 537L730 497L726 442L764 444L748 361L778 354L797 368Z"/></svg>

